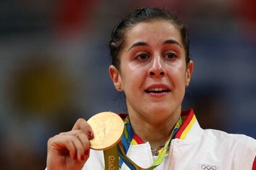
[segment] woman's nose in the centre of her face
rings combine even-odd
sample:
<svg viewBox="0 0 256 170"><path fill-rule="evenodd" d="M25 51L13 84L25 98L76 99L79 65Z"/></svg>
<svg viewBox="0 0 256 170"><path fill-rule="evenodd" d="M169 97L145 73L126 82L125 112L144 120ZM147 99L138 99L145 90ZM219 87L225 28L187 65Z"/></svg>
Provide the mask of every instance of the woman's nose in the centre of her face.
<svg viewBox="0 0 256 170"><path fill-rule="evenodd" d="M153 59L150 69L148 69L148 76L151 78L162 78L166 75L166 70L161 63L161 57Z"/></svg>

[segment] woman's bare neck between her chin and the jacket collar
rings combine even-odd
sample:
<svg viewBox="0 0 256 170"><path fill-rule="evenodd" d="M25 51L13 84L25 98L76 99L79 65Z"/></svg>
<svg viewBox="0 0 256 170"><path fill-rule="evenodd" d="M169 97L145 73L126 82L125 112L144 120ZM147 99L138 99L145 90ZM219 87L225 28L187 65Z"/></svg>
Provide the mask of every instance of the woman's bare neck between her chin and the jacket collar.
<svg viewBox="0 0 256 170"><path fill-rule="evenodd" d="M130 123L135 134L144 142L149 142L152 148L163 146L171 135L179 116L181 115L181 108L169 113L167 118L153 118L150 121L145 114L136 114L129 111ZM150 114L155 115L155 114Z"/></svg>

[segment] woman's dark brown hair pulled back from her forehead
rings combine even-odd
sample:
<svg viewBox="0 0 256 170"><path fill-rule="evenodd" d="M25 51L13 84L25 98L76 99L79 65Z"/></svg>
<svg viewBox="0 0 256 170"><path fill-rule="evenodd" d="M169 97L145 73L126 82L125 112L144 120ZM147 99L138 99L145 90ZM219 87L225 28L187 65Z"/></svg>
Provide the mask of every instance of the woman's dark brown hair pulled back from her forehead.
<svg viewBox="0 0 256 170"><path fill-rule="evenodd" d="M112 65L114 65L114 67L119 69L120 60L118 55L124 44L126 31L133 28L138 23L150 22L153 20L166 20L176 27L181 34L182 43L186 51L186 63L189 63L189 37L187 34L187 26L184 25L178 17L169 13L167 10L146 7L137 9L127 15L127 17L125 17L112 31L111 40L109 41L109 49Z"/></svg>

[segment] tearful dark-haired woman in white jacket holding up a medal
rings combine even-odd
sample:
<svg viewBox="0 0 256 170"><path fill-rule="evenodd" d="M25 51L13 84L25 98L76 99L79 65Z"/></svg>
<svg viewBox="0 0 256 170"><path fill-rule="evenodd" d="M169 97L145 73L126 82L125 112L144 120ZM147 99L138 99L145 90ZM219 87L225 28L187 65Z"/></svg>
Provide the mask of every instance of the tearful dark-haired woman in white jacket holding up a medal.
<svg viewBox="0 0 256 170"><path fill-rule="evenodd" d="M122 137L131 162L119 157L121 169L252 169L253 164L256 169L254 139L203 130L193 110L181 111L194 63L186 26L177 17L162 9L138 9L111 38L109 75L125 94L124 121L132 137L128 142ZM103 152L90 150L92 138L87 121L79 119L71 131L49 139L48 169L104 169Z"/></svg>

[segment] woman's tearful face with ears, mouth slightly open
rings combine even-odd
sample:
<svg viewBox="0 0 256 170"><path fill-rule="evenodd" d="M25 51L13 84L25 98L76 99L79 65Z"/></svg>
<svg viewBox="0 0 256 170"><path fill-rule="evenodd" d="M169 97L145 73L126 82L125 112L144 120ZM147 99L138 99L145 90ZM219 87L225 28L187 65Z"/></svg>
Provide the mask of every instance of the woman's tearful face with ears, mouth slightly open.
<svg viewBox="0 0 256 170"><path fill-rule="evenodd" d="M119 70L110 66L109 73L126 95L129 114L152 119L179 114L193 63L186 67L174 25L163 20L138 23L126 31L119 59Z"/></svg>

